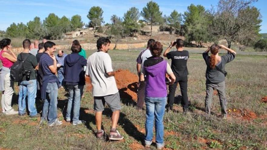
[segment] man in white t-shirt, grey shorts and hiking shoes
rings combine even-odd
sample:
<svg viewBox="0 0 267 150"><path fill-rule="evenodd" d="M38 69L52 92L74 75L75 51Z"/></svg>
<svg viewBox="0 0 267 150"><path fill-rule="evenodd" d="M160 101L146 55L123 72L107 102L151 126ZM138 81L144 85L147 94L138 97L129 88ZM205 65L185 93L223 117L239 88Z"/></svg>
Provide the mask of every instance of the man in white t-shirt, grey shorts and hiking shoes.
<svg viewBox="0 0 267 150"><path fill-rule="evenodd" d="M120 95L114 78L109 50L110 39L100 37L96 46L98 51L88 57L86 75L90 76L93 85L94 110L96 111L97 138L103 138L104 131L101 129L102 112L105 102L112 113L112 127L110 140L121 140L123 136L117 131L117 123L120 116Z"/></svg>

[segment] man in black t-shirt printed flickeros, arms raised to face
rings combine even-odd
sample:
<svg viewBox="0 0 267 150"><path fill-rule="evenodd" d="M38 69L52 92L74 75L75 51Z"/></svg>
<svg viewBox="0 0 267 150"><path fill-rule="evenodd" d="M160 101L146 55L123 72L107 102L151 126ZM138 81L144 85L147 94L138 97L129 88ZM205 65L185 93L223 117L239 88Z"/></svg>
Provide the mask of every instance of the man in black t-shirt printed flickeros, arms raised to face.
<svg viewBox="0 0 267 150"><path fill-rule="evenodd" d="M176 46L177 51L170 52L171 48ZM171 59L171 69L176 77L173 85L169 86L169 96L167 111L172 110L174 103L174 94L179 83L182 94L182 106L184 113L188 112L188 96L187 96L187 81L188 81L188 69L187 60L189 58L188 51L184 50L184 41L177 39L171 42L171 45L165 50L163 56Z"/></svg>

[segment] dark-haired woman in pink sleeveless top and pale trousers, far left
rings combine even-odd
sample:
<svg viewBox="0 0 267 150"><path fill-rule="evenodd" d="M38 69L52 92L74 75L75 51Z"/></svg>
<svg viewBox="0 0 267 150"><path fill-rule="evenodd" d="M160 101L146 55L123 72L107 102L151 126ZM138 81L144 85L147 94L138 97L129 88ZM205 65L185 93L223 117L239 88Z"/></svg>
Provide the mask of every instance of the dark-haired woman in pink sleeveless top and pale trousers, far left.
<svg viewBox="0 0 267 150"><path fill-rule="evenodd" d="M11 40L4 38L0 41L0 60L2 68L0 71L0 89L2 91L2 112L6 115L18 114L11 106L12 96L14 93L13 85L10 81L10 67L17 61L17 56L11 50Z"/></svg>

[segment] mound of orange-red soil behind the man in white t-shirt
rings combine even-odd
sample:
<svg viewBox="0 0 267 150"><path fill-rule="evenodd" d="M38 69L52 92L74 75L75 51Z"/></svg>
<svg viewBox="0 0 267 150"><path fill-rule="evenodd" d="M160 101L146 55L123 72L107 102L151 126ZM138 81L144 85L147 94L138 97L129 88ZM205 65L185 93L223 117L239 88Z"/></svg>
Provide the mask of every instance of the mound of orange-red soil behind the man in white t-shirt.
<svg viewBox="0 0 267 150"><path fill-rule="evenodd" d="M120 96L123 98L129 98L137 100L137 75L131 73L129 70L117 70L115 71L115 79L118 89L120 90ZM92 84L89 77L86 80L86 91L91 91Z"/></svg>

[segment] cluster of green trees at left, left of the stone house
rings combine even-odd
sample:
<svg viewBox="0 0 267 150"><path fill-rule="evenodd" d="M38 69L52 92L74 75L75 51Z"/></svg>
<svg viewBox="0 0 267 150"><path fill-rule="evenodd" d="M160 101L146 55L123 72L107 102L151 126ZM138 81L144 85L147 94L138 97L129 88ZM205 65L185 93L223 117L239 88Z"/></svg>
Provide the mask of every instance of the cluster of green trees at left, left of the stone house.
<svg viewBox="0 0 267 150"><path fill-rule="evenodd" d="M35 17L27 24L12 23L5 32L6 37L25 37L30 39L60 39L63 34L73 31L76 28L82 28L84 23L80 15L74 15L71 19L63 16L59 18L54 13L49 14L45 20L41 21L39 17Z"/></svg>

